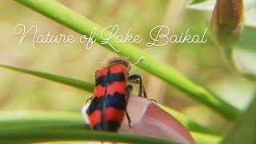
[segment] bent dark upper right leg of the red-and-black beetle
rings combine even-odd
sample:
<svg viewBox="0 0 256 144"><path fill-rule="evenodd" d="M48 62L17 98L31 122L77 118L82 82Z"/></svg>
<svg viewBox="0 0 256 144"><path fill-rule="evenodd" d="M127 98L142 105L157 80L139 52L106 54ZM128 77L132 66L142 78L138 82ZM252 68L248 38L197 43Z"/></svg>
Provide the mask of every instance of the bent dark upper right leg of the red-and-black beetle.
<svg viewBox="0 0 256 144"><path fill-rule="evenodd" d="M128 82L135 83L139 85L139 90L138 90L138 96L142 96L142 91L143 91L143 96L146 98L146 90L145 86L142 83L142 77L138 74L133 74L128 77Z"/></svg>

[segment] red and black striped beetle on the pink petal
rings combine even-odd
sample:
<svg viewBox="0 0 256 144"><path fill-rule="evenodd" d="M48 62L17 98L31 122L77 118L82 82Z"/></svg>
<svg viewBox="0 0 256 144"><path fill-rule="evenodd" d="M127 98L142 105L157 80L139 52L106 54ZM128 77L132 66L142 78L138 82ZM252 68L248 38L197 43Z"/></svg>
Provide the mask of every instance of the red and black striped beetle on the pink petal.
<svg viewBox="0 0 256 144"><path fill-rule="evenodd" d="M118 131L125 114L130 126L126 106L133 86L127 82L138 84L138 96L143 93L146 97L141 76L129 76L130 68L125 58L118 57L111 58L106 67L95 72L94 95L89 98L91 103L86 110L93 130Z"/></svg>

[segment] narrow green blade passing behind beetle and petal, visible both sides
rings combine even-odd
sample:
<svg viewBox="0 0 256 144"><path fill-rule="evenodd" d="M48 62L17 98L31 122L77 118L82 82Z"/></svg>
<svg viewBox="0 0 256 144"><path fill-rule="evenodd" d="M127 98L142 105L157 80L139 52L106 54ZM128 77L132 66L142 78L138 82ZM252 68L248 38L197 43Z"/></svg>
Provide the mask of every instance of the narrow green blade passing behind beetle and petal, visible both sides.
<svg viewBox="0 0 256 144"><path fill-rule="evenodd" d="M31 75L34 75L34 76L38 76L40 78L46 78L50 81L62 83L66 86L71 86L71 87L74 87L74 88L77 88L77 89L80 89L80 90L86 90L88 92L93 92L94 91L94 85L93 84L91 84L89 82L83 82L83 81L80 81L78 79L66 78L66 77L62 77L62 76L59 76L59 75L55 75L55 74L43 73L43 72L40 72L40 71L26 70L26 69L14 67L14 66L0 65L0 67L4 67L4 68L10 69L10 70L20 71L20 72L23 72L23 73L26 73L26 74L31 74ZM69 81L67 82L66 79L68 79ZM187 118L186 115L181 114L178 111L172 110L169 107L163 106L161 104L158 104L158 105L161 106L162 109L166 110L167 113L174 116L174 118L177 118L178 121L181 122L183 124L183 126L185 126L188 130L203 132L203 133L207 133L207 134L216 134L213 130L207 129L203 126L200 126L198 123L193 122L192 120L190 120L190 118Z"/></svg>

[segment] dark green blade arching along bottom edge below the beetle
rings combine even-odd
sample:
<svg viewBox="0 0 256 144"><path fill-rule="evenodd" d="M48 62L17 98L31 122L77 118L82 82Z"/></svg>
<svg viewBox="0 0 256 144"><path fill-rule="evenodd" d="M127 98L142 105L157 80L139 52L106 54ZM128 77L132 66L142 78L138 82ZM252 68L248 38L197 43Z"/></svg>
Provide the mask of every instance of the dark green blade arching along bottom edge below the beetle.
<svg viewBox="0 0 256 144"><path fill-rule="evenodd" d="M61 130L46 128L6 130L0 133L2 143L31 143L50 141L99 141L99 142L129 142L129 143L178 143L157 138L141 137L129 134L107 133L102 131L82 130L77 127L68 127Z"/></svg>

